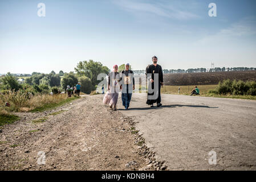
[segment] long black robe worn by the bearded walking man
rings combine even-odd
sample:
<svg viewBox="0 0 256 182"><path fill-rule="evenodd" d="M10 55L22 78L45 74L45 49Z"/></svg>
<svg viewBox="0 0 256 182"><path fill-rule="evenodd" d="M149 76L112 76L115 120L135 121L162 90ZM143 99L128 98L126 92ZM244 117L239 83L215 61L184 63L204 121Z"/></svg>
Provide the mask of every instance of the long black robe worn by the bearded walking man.
<svg viewBox="0 0 256 182"><path fill-rule="evenodd" d="M164 82L163 80L163 75L162 75L162 67L157 64L156 66L151 64L147 67L146 69L146 72L147 72L147 80L149 82L149 85L148 85L148 100L147 100L147 104L148 105L152 105L153 103L156 103L159 104L161 102L161 95L160 95L160 90L161 90L161 82ZM159 78L158 78L158 89L155 90L156 93L156 99L150 99L149 96L153 96L154 95L154 83L157 82L157 80L154 79L154 77L156 77L156 75L154 74L159 74ZM153 79L154 82L150 82L150 79ZM155 83L156 84L156 83Z"/></svg>

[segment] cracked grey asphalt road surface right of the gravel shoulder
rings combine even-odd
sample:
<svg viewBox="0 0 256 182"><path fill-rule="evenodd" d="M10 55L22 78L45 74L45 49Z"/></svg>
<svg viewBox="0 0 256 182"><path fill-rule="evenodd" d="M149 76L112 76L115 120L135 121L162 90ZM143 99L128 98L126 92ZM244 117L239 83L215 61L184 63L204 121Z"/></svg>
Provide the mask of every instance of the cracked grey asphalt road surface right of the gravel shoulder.
<svg viewBox="0 0 256 182"><path fill-rule="evenodd" d="M256 101L163 94L163 106L151 109L146 97L133 94L131 109L120 111L136 117L137 129L170 170L256 169ZM216 165L209 164L210 151Z"/></svg>

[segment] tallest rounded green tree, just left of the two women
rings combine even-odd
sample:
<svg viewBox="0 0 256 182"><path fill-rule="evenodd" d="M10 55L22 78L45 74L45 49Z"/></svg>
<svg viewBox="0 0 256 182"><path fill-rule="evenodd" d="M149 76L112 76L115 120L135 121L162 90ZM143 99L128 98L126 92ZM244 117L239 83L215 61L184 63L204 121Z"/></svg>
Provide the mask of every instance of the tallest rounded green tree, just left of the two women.
<svg viewBox="0 0 256 182"><path fill-rule="evenodd" d="M79 76L86 76L91 79L92 85L97 85L101 80L97 80L100 73L109 73L108 67L103 66L100 62L89 60L80 61L75 68Z"/></svg>

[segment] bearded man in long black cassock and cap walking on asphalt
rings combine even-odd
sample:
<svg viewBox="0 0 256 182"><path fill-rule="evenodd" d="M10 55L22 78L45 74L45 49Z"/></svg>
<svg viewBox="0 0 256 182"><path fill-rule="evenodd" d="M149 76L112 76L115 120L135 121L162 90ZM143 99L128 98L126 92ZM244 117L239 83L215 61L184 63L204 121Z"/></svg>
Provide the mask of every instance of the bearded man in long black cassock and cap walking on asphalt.
<svg viewBox="0 0 256 182"><path fill-rule="evenodd" d="M153 64L148 65L146 69L147 80L149 81L147 104L153 107L153 104L157 103L157 107L160 107L162 105L160 90L161 86L164 84L162 67L157 64L156 56L152 57L152 62Z"/></svg>

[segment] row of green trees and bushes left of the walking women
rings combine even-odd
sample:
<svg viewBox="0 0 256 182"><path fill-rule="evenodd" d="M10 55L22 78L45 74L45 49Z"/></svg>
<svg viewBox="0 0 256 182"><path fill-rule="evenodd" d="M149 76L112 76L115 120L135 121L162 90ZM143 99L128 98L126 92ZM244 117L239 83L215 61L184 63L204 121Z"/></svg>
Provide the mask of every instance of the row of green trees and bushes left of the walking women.
<svg viewBox="0 0 256 182"><path fill-rule="evenodd" d="M7 73L0 78L0 90L26 90L35 93L50 93L65 91L67 85L74 87L78 82L82 85L82 92L90 94L96 89L101 80L97 80L99 73L109 73L109 69L98 61L79 61L75 72L64 73L60 71L44 74L32 72L25 82L19 83L17 75ZM20 76L20 75L19 75Z"/></svg>

